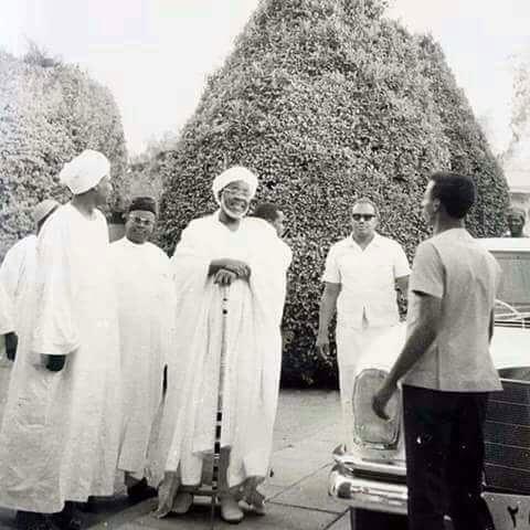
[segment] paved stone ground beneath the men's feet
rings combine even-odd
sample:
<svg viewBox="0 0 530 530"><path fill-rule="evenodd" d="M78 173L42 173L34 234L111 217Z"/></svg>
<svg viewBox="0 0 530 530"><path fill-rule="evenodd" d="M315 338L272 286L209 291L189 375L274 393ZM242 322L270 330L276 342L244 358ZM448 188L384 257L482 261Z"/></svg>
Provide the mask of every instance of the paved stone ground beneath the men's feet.
<svg viewBox="0 0 530 530"><path fill-rule="evenodd" d="M0 367L0 414L3 411L8 369ZM340 438L338 392L282 391L274 437L274 476L262 488L267 515L248 513L239 524L244 529L349 530L347 506L327 495L331 452ZM131 506L123 494L102 500L97 513L86 515L93 530L209 529L208 499L190 513L162 520L152 515L153 502ZM13 512L0 509L0 529L13 528ZM234 528L216 519L215 528Z"/></svg>

